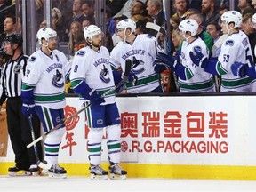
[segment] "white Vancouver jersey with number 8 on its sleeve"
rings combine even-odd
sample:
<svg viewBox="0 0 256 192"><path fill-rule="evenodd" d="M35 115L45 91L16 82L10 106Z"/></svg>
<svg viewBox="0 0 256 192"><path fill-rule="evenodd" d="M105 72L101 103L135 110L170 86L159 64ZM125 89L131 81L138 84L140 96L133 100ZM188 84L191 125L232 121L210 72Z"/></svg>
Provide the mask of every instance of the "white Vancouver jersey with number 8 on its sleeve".
<svg viewBox="0 0 256 192"><path fill-rule="evenodd" d="M86 46L76 52L72 62L70 81L72 85L75 84L74 88L85 81L90 88L97 90L101 95L113 89L115 82L109 63L108 49L101 46L100 50L95 52L89 46ZM116 102L115 91L113 90L113 92L105 95L104 99L105 102L101 105ZM84 99L80 98L80 100Z"/></svg>

